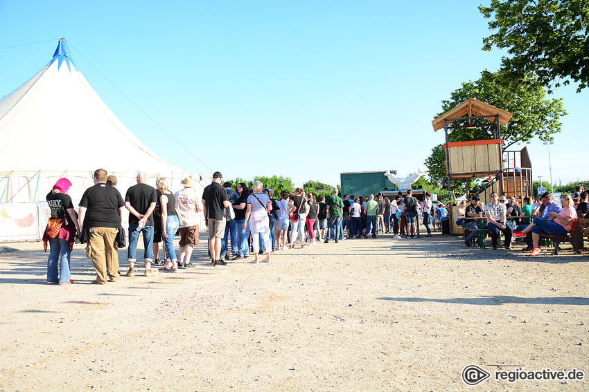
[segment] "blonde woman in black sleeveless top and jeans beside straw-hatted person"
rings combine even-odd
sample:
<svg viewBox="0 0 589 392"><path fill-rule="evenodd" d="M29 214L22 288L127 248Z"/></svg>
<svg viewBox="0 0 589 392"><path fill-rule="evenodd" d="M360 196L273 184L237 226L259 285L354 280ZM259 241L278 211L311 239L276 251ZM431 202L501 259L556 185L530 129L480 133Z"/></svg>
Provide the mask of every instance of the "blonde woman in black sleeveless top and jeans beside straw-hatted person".
<svg viewBox="0 0 589 392"><path fill-rule="evenodd" d="M161 209L161 236L164 237L164 248L166 249L166 265L161 268L164 272L177 272L178 260L174 250L174 236L179 227L178 215L176 213L176 198L168 190L168 180L164 177L157 179L155 185L161 197L159 207Z"/></svg>

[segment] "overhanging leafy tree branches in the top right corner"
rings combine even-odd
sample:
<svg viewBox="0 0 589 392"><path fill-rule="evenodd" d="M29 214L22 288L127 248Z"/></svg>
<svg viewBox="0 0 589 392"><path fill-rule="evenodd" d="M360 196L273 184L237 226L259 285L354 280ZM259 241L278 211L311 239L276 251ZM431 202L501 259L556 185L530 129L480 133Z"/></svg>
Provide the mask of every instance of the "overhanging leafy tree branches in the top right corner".
<svg viewBox="0 0 589 392"><path fill-rule="evenodd" d="M483 50L492 46L508 48L502 70L511 80L529 73L550 88L579 84L577 92L589 83L589 1L587 0L491 0L480 6L490 30Z"/></svg>

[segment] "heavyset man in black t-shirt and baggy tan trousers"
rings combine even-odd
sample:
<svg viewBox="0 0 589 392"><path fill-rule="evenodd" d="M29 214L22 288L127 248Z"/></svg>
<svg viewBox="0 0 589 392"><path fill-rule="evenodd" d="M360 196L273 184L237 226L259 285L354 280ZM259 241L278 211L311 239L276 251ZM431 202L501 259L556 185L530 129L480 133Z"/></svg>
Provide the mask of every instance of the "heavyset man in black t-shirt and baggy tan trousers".
<svg viewBox="0 0 589 392"><path fill-rule="evenodd" d="M107 185L105 169L94 171L94 187L86 189L80 200L78 221L80 232L87 231L89 240L86 255L96 270L92 283L106 284L118 281L118 250L115 239L121 227L125 202L116 188Z"/></svg>

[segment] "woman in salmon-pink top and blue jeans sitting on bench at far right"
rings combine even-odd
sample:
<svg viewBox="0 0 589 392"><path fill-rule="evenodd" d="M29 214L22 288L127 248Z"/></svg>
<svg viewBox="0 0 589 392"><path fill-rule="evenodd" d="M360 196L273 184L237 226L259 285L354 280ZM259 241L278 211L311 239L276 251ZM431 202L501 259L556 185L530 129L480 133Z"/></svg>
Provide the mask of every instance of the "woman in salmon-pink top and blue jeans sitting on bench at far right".
<svg viewBox="0 0 589 392"><path fill-rule="evenodd" d="M528 232L531 232L533 248L529 254L530 256L536 256L536 254L542 252L538 245L540 235L566 236L570 232L572 221L574 218L577 218L577 211L574 209L570 195L563 195L561 197L561 203L563 205L561 212L551 211L550 218L534 218L534 222L526 227L525 230L513 234L514 236L525 236Z"/></svg>

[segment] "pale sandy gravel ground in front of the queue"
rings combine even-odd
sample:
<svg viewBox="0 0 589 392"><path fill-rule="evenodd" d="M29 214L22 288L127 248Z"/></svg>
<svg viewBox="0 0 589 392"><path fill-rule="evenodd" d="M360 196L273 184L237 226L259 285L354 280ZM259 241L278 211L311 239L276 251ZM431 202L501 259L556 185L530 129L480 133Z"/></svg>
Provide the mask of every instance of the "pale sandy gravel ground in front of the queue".
<svg viewBox="0 0 589 392"><path fill-rule="evenodd" d="M200 245L192 270L96 286L77 245L76 283L47 286L42 246L7 246L0 391L441 391L471 390L460 378L471 363L589 372L586 252L384 235L212 267ZM472 389L588 382L491 377Z"/></svg>

